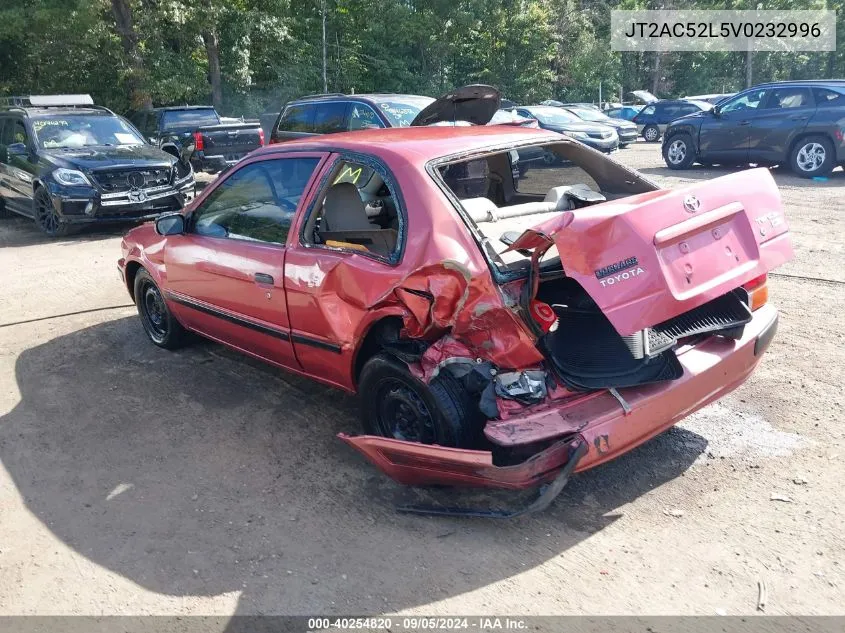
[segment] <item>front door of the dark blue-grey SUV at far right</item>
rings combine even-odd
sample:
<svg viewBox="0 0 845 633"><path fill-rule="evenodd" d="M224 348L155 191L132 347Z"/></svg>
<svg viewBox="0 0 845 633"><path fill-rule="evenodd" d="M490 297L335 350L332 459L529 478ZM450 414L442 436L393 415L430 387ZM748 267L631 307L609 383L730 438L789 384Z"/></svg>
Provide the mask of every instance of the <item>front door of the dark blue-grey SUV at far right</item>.
<svg viewBox="0 0 845 633"><path fill-rule="evenodd" d="M765 97L765 90L749 90L715 108L701 123L699 157L713 162L748 162L751 121Z"/></svg>

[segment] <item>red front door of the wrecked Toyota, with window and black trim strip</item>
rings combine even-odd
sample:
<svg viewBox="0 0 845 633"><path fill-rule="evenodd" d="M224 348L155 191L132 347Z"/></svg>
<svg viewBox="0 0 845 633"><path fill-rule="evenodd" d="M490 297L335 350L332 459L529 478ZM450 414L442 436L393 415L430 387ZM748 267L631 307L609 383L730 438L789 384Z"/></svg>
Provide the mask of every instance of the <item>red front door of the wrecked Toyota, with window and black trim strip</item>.
<svg viewBox="0 0 845 633"><path fill-rule="evenodd" d="M325 154L268 156L233 170L167 239L166 294L189 328L290 368L288 233Z"/></svg>

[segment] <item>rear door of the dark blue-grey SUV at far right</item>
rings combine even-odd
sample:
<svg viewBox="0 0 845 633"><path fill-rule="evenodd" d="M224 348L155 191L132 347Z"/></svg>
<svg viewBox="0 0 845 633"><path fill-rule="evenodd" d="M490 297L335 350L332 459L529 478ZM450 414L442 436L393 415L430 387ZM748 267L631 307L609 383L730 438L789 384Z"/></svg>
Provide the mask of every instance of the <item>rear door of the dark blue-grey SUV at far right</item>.
<svg viewBox="0 0 845 633"><path fill-rule="evenodd" d="M782 161L816 111L809 88L782 86L768 91L751 118L748 159Z"/></svg>

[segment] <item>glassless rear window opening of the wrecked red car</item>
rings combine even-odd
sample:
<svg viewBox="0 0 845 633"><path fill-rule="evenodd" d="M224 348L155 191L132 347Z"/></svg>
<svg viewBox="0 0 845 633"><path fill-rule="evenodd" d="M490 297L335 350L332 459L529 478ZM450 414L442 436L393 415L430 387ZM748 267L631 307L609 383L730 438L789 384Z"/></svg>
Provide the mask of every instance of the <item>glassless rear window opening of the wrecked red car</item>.
<svg viewBox="0 0 845 633"><path fill-rule="evenodd" d="M524 271L525 253L507 247L525 230L564 211L654 191L657 186L603 154L567 141L518 146L437 168L494 268ZM556 250L544 256L553 266Z"/></svg>

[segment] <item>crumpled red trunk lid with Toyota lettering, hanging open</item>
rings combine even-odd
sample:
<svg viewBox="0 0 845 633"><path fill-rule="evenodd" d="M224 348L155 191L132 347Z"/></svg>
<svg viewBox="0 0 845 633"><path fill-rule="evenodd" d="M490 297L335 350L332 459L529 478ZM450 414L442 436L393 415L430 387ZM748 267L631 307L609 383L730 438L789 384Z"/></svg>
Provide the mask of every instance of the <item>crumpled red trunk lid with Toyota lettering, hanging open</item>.
<svg viewBox="0 0 845 633"><path fill-rule="evenodd" d="M557 246L566 276L625 336L788 261L788 231L774 179L759 168L566 211L510 248Z"/></svg>

